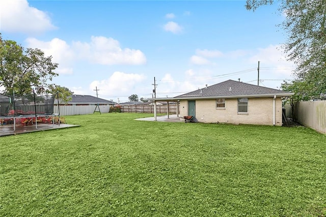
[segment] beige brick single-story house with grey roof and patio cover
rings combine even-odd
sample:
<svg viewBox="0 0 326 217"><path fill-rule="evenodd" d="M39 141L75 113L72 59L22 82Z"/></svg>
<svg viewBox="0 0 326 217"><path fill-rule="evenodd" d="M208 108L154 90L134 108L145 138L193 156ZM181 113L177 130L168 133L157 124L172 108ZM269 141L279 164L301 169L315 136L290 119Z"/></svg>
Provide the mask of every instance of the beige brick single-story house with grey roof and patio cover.
<svg viewBox="0 0 326 217"><path fill-rule="evenodd" d="M195 116L198 122L282 125L282 99L293 93L226 80L173 98L150 101L179 103L179 117ZM156 118L154 109L154 118Z"/></svg>

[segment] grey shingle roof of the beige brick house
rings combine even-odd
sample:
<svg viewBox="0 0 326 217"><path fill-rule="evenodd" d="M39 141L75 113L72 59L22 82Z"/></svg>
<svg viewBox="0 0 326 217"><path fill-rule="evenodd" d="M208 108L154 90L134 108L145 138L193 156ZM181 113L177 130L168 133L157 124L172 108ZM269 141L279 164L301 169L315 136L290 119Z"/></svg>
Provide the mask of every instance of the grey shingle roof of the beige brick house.
<svg viewBox="0 0 326 217"><path fill-rule="evenodd" d="M235 80L226 80L225 82L215 84L207 88L202 88L196 91L192 91L186 94L182 94L174 98L189 98L189 97L207 98L207 97L221 97L221 96L234 97L234 96L254 96L254 95L268 96L273 94L275 95L288 94L289 96L292 95L291 93L282 90L266 88L266 87L246 84L242 82L236 82Z"/></svg>

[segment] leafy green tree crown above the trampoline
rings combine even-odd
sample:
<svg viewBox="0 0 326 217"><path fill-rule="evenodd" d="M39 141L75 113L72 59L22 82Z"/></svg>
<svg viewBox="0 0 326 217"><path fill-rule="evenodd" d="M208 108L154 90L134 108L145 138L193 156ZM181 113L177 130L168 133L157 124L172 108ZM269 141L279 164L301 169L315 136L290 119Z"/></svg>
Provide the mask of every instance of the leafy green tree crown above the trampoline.
<svg viewBox="0 0 326 217"><path fill-rule="evenodd" d="M40 49L23 48L0 34L0 87L5 94L29 94L33 87L47 87L54 76L57 63L45 57Z"/></svg>

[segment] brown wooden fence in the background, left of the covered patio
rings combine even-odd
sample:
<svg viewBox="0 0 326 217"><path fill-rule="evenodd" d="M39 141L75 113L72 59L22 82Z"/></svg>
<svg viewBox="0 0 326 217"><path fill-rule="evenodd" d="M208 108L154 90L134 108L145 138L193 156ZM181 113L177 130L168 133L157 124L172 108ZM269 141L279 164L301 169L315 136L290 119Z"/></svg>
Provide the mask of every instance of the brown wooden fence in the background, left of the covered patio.
<svg viewBox="0 0 326 217"><path fill-rule="evenodd" d="M177 114L177 105L169 105L170 114ZM154 105L121 105L121 113L154 113ZM156 105L156 113L168 113L168 105Z"/></svg>

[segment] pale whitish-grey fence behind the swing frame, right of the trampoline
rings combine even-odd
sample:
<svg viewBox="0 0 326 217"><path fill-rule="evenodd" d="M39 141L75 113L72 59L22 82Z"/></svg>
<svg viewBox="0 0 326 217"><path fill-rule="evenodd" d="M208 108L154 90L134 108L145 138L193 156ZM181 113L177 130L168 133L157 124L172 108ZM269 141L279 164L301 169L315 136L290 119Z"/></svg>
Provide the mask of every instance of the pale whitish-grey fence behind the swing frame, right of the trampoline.
<svg viewBox="0 0 326 217"><path fill-rule="evenodd" d="M110 106L111 105L99 105L101 113L110 112ZM96 105L60 105L60 116L93 114L95 107ZM98 111L98 107L96 111ZM53 107L53 113L59 113L58 105Z"/></svg>

